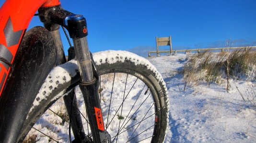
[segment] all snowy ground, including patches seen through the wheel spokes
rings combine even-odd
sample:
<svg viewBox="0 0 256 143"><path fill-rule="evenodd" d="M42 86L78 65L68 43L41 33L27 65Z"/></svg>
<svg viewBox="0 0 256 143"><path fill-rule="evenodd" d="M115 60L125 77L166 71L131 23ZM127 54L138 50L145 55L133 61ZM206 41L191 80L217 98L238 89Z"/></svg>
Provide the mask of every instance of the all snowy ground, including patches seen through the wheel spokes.
<svg viewBox="0 0 256 143"><path fill-rule="evenodd" d="M177 71L181 71L184 68L186 64L186 54L153 57L148 60L151 61L162 74L169 92L169 126L165 143L256 143L256 108L255 106L251 106L250 103L244 102L240 95L240 93L244 96L250 94L255 97L255 81L231 80L229 92L226 92L225 80L223 80L224 82L221 84L211 83L209 85L207 85L206 82L200 82L194 86L187 86L184 92L183 75ZM108 79L108 77L113 77L113 75L106 75L106 79L102 81L104 82L102 86L108 87L108 85L113 83L113 80ZM116 77L124 77L123 79L119 79L119 81L121 81L120 83L126 82L126 75L116 75ZM128 79L130 80L128 82L135 81L135 79ZM123 84L120 85L123 86ZM117 89L130 88L119 86L119 84L115 86ZM112 85L109 87L112 87ZM106 90L105 87L101 88L103 89L103 94L111 92L111 88L108 90ZM134 91L131 92L134 92L133 94L136 96L129 97L128 103L124 103L124 106L121 108L124 108L124 110L131 108L133 105L132 102L135 102L137 98L138 93L136 92L140 92L141 88L144 88L141 84L135 84ZM120 91L120 89L117 91ZM145 88L145 90L146 89L147 88ZM114 90L114 92L116 91ZM76 94L78 95L78 103L80 104L80 99L82 99L81 92L76 89ZM115 94L118 95L120 93L116 92ZM101 99L103 102L102 107L106 109L108 109L108 107L105 106L105 102L109 102L108 96L109 95L103 96ZM120 103L118 102L122 101L123 98L122 94L113 98L116 104L111 107L110 112L115 112L120 108ZM145 99L146 96L141 98ZM152 101L152 99L149 100ZM80 108L82 111L85 108L84 104L81 103ZM140 112L144 112L148 110L148 108L150 108L150 106L142 107ZM62 104L61 101L57 102L51 109L54 112L58 112L58 114L65 113L65 105ZM106 113L103 112L103 114ZM114 113L110 113L110 116L113 116L113 114ZM149 117L149 120L150 118L154 120L154 117L150 116L151 114L152 113L149 113L146 117ZM122 118L122 116L125 117L126 115L120 115L119 113L119 117ZM134 123L130 122L130 124L136 124L136 122L140 120L138 119L139 117L140 113L135 114L131 120ZM115 118L108 128L111 129L117 126L119 121L120 120ZM54 124L49 124L49 122L53 122ZM106 122L107 121L105 121L105 123ZM147 123L151 122L146 121L145 124ZM40 129L41 132L47 133L55 139L59 139L59 142L69 142L69 123L62 122L60 117L50 111L47 111L43 117L40 118L35 124L35 128ZM140 128L138 130L140 130ZM33 129L29 134L36 134L35 140L38 141L38 143L53 142L49 140L48 137L44 137L44 135ZM121 141L122 137L125 138L125 135L120 135L118 141ZM145 140L143 143L148 143L148 141Z"/></svg>

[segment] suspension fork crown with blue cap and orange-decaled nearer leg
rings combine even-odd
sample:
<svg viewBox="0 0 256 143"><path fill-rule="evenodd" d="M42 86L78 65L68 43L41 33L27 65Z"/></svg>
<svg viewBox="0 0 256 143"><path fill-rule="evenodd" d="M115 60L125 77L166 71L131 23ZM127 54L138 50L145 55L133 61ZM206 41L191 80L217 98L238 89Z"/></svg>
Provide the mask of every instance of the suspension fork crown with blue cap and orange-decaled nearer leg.
<svg viewBox="0 0 256 143"><path fill-rule="evenodd" d="M109 136L104 128L98 95L99 76L97 75L95 66L93 68L91 61L86 39L88 32L85 18L83 18L82 15L76 15L62 9L60 5L50 8L40 8L38 13L40 20L49 31L58 30L58 25L64 26L69 31L70 38L72 38L74 43L76 59L81 75L80 89L83 94L87 116L91 125L93 142L107 143L109 141ZM55 37L58 39L59 34L55 34ZM69 97L66 101L72 101L72 99ZM69 104L70 102L66 103L66 105ZM74 113L70 111L69 115L72 114ZM75 127L75 125L72 125L72 127L73 126ZM83 128L81 130L83 131ZM108 136L108 139L106 138L106 135Z"/></svg>

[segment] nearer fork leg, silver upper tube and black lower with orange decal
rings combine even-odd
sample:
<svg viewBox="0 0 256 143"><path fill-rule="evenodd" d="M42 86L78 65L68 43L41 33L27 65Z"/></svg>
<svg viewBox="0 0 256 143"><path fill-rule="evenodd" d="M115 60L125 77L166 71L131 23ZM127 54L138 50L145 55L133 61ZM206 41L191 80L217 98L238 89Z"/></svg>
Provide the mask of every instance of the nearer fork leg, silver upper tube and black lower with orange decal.
<svg viewBox="0 0 256 143"><path fill-rule="evenodd" d="M87 28L81 28L80 30L86 31L87 33ZM95 65L92 65L87 38L82 37L72 39L81 75L81 83L79 87L83 94L87 116L93 134L93 141L94 143L108 143L110 138L106 138L106 135L108 134L104 128L98 94L99 76L96 72Z"/></svg>

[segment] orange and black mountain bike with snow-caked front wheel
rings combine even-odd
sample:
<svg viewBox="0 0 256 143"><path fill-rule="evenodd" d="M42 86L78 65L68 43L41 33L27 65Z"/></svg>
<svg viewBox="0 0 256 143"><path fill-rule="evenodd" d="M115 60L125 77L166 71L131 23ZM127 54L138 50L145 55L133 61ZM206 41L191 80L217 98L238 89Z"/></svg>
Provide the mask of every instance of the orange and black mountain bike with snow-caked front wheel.
<svg viewBox="0 0 256 143"><path fill-rule="evenodd" d="M25 32L34 15L44 27ZM68 62L60 26L74 43ZM36 121L61 97L72 143L164 141L169 101L161 74L127 51L90 53L87 35L85 18L61 8L59 0L5 1L0 8L0 143L22 142L30 130L37 131Z"/></svg>

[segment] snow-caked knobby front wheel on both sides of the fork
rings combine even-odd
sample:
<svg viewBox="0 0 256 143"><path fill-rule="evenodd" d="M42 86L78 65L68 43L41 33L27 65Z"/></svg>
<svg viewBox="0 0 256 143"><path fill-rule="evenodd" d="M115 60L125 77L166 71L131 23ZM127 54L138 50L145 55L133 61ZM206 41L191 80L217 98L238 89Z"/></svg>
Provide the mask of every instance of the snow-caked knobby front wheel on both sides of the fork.
<svg viewBox="0 0 256 143"><path fill-rule="evenodd" d="M137 139L137 140L133 139L133 137L137 137L141 133L141 132L137 131L138 133L134 134L135 130L138 128L138 127L136 128L136 124L140 125L142 123L142 121L144 122L144 120L145 121L148 120L146 118L149 118L150 115L144 114L144 113L148 112L148 111L145 111L145 109L151 108L152 106L154 106L154 108L153 108L154 116L152 116L153 119L151 119L151 122L153 122L153 125L152 125L153 129L144 127L150 122L146 122L145 125L143 125L143 127L141 127L141 128L142 129L146 128L145 131L151 130L152 133L149 136L151 138L151 143L162 143L164 141L165 135L167 133L167 126L168 126L168 121L169 121L169 100L168 100L167 89L165 87L165 83L163 82L163 78L162 78L161 74L157 72L156 68L153 65L151 65L151 63L149 61L147 61L144 58L141 58L140 56L137 56L133 53L127 52L127 51L101 51L101 52L94 53L93 59L96 64L96 69L97 69L98 74L102 75L102 76L100 76L101 78L103 78L105 74L107 74L107 75L105 75L107 78L109 78L109 77L113 78L113 76L114 76L113 80L106 79L105 81L103 81L108 85L109 85L109 83L113 82L112 93L113 93L113 87L114 87L115 80L118 80L118 78L115 78L115 76L119 77L119 79L120 79L120 77L121 78L124 77L121 80L122 82L117 81L117 83L115 85L115 87L119 88L119 87L121 87L121 86L119 86L120 83L126 83L125 89L123 89L123 88L118 89L120 91L124 91L124 93L121 93L124 95L128 95L129 92L131 91L131 89L133 88L133 86L128 87L127 82L132 82L131 84L133 84L134 81L135 82L137 82L137 80L141 81L141 84L138 82L136 84L138 84L137 85L138 88L143 87L143 89L141 91L137 92L136 95L134 95L134 97L130 98L130 101L128 101L128 103L125 103L122 101L124 101L125 98L127 98L127 97L129 98L130 95L125 97L120 94L119 95L120 97L116 98L116 99L119 99L119 102L121 99L121 102L122 102L120 104L120 106L118 103L119 109L120 109L120 107L123 109L123 106L130 108L131 105L138 108L139 105L134 105L137 102L137 100L135 101L135 99L138 99L140 97L140 94L142 94L139 100L143 99L146 101L147 96L151 95L150 97L152 99L151 100L152 102L149 102L149 101L146 101L146 102L148 104L151 103L152 105L150 104L150 106L146 106L144 109L140 109L140 113L138 113L136 111L137 113L135 112L134 113L135 115L134 114L132 115L132 113L126 114L127 117L129 116L131 120L136 122L136 123L132 124L132 125L134 125L134 124L135 125L132 126L133 129L128 133L128 135L131 135L132 137L129 137L127 141L132 142L132 143L144 141L143 138ZM109 75L109 73L112 73L112 75ZM120 75L120 74L124 74L124 76ZM129 81L127 80L128 77L129 77ZM131 77L131 79L130 79L130 77ZM135 78L132 79L133 77L135 77ZM77 67L76 61L74 61L74 60L69 61L63 65L59 65L59 66L55 67L49 73L45 83L43 84L41 90L39 91L39 93L36 97L35 102L33 103L33 107L31 108L31 110L27 116L27 119L23 125L23 135L21 136L21 140L24 139L25 135L31 130L32 126L36 123L38 118L54 102L56 102L65 93L69 92L73 87L75 87L76 85L79 84L79 79L80 79L80 77L78 74L78 67ZM145 84L143 85L143 83L145 83ZM100 92L105 90L103 88L103 86L104 86L104 84L101 83L101 86L99 89ZM146 86L146 88L144 89L145 86ZM109 92L109 91L107 91L107 92ZM112 93L111 93L111 97L112 97ZM118 93L119 93L119 91L117 91L113 94L118 94ZM107 95L105 98L107 98L107 97L110 97L110 95ZM101 98L104 98L104 95L102 95ZM115 103L117 104L116 99L113 99L112 103L114 102L114 104ZM132 100L135 101L134 104L131 103ZM110 100L102 99L101 101L103 101L103 102L110 101L110 103L111 103L111 99ZM145 102L145 101L143 101L143 102ZM110 109L112 110L112 108L115 108L115 107L110 107L110 105L106 106L105 109L109 111ZM102 106L104 106L104 105L102 105ZM109 113L107 114L104 111L102 111L102 112L103 112L103 114L105 114L105 117L104 117L105 124L109 123L109 125L110 125L110 123L112 122L112 124L114 123L114 125L112 125L113 127L116 126L116 127L118 127L117 130L119 128L121 130L122 125L120 125L120 122L122 122L124 120L124 118L126 118L127 120L130 120L130 119L128 119L126 117L125 113L123 113L123 114L121 113L121 115L120 115L119 109L117 110L118 106L116 106L116 108L112 111L116 114L118 112L118 114L119 114L119 116L118 116L118 114L117 115L115 114L116 116L114 116L112 118L112 120L113 119L117 120L117 122L115 122L115 121L112 122L111 119L107 119L109 121L106 122L105 118L109 116ZM118 126L118 122L119 122L119 126ZM148 126L151 126L151 125L148 125ZM125 127L125 128L127 129L129 127ZM145 131L142 130L142 132L145 132ZM120 133L121 131L118 130L117 132ZM136 134L137 134L137 136L136 136ZM110 133L110 135L112 137L112 140L118 140L118 142L119 141L124 142L121 139L122 138L121 135L116 136L111 133ZM144 138L147 139L147 137L144 137Z"/></svg>

